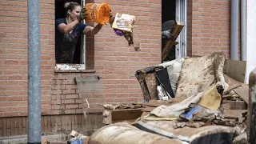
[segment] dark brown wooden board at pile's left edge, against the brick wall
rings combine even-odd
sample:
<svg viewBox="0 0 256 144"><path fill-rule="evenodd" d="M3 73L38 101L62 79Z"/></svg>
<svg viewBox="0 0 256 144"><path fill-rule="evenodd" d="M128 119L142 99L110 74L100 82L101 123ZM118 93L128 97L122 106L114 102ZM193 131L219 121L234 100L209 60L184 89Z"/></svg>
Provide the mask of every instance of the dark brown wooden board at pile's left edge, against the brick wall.
<svg viewBox="0 0 256 144"><path fill-rule="evenodd" d="M141 115L142 109L111 110L110 123L134 120L139 118Z"/></svg>

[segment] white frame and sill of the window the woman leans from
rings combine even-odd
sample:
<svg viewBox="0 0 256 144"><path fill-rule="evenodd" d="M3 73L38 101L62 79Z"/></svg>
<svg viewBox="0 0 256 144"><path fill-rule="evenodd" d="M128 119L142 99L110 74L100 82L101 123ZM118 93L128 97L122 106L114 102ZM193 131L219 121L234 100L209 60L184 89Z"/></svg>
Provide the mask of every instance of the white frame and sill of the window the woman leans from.
<svg viewBox="0 0 256 144"><path fill-rule="evenodd" d="M81 6L85 6L85 4L86 0L81 0ZM85 20L83 20L82 23L86 23ZM81 41L81 64L56 63L55 70L86 70L86 34L82 34Z"/></svg>

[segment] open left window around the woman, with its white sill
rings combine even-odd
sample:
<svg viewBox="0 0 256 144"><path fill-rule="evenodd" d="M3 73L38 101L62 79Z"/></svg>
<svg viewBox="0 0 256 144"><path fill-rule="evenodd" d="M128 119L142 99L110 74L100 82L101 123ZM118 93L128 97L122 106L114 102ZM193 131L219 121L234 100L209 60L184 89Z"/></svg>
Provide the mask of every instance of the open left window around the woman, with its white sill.
<svg viewBox="0 0 256 144"><path fill-rule="evenodd" d="M66 17L66 10L64 8L65 2L70 2L70 1L55 0L55 19ZM84 2L82 0L73 0L72 2L78 2L81 4L81 6L84 6ZM78 39L78 42L74 51L74 59L72 64L56 63L55 69L56 70L86 70L86 35L82 34L81 37Z"/></svg>

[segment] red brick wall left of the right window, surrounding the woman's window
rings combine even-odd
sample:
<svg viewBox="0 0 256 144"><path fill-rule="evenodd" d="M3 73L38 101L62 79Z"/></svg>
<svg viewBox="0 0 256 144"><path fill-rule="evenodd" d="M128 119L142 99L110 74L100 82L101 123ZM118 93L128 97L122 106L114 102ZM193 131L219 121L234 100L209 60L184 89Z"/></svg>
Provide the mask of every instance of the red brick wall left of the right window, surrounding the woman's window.
<svg viewBox="0 0 256 144"><path fill-rule="evenodd" d="M27 1L1 0L0 18L0 117L27 115ZM99 102L142 101L135 71L161 62L161 0L94 1L106 2L112 13L137 16L134 42L114 34L109 25L87 38L89 70L54 72L54 1L41 0L42 114L81 114L82 96L76 76L99 75L102 94L91 95L91 111ZM154 14L152 14L154 13ZM94 42L94 45L91 44ZM94 55L94 56L93 56ZM95 71L95 72L94 72Z"/></svg>

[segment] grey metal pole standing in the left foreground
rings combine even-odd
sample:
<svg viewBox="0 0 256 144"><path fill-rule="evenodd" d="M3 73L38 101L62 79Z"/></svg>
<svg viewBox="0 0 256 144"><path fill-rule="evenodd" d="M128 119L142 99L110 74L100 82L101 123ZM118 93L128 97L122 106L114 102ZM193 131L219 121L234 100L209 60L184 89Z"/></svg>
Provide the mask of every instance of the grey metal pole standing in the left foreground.
<svg viewBox="0 0 256 144"><path fill-rule="evenodd" d="M27 0L28 143L41 143L40 0Z"/></svg>

